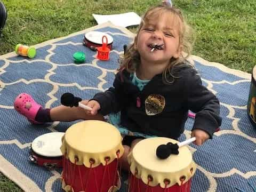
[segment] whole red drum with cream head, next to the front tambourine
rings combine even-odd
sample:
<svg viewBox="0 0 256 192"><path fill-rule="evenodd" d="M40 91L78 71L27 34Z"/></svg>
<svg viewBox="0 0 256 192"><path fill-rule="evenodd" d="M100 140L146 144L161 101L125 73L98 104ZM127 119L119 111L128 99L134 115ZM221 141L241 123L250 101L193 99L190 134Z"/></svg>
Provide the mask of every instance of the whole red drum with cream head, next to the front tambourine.
<svg viewBox="0 0 256 192"><path fill-rule="evenodd" d="M96 120L71 125L66 131L62 189L107 192L120 188L118 159L123 155L122 137L115 126Z"/></svg>

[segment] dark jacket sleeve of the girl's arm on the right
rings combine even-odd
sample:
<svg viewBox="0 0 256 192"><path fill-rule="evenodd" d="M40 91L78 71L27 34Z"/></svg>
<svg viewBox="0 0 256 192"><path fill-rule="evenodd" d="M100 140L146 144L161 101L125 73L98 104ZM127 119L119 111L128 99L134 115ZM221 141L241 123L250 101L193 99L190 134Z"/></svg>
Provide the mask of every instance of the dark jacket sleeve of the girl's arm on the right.
<svg viewBox="0 0 256 192"><path fill-rule="evenodd" d="M221 125L220 103L217 97L202 85L199 75L192 71L187 79L188 109L196 113L193 129L201 129L210 135Z"/></svg>

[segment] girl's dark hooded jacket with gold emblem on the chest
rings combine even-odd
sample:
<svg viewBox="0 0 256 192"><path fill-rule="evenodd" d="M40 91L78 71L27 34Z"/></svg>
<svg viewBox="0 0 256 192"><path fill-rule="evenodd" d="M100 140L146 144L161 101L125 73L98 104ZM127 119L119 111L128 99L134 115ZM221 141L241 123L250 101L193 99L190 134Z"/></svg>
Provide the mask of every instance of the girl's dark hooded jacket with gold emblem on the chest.
<svg viewBox="0 0 256 192"><path fill-rule="evenodd" d="M195 69L186 65L173 74L179 77L173 83L163 83L162 74L158 74L140 91L124 70L116 74L113 87L95 94L93 100L100 103L102 115L121 111L121 125L132 132L173 139L183 133L191 110L196 113L193 129L204 130L212 138L221 125L219 100L202 85ZM164 98L164 108L164 101L159 98Z"/></svg>

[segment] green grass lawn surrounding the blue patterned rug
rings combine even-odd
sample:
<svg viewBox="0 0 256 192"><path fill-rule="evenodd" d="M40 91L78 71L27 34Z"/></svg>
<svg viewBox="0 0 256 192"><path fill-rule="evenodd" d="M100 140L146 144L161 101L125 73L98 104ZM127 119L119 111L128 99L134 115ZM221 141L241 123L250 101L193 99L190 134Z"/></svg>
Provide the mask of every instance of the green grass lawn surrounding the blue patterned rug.
<svg viewBox="0 0 256 192"><path fill-rule="evenodd" d="M2 0L8 19L0 55L97 25L92 13L141 15L161 0ZM193 54L251 73L256 64L256 1L173 0L196 31ZM133 32L134 27L129 28ZM0 191L22 191L0 175Z"/></svg>

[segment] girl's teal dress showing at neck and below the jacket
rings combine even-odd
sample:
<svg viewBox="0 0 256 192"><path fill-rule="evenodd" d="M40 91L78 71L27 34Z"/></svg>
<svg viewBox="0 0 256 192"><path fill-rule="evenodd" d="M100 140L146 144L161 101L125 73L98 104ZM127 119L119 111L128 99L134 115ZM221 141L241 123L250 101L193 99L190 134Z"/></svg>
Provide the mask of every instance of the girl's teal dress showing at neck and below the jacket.
<svg viewBox="0 0 256 192"><path fill-rule="evenodd" d="M140 91L143 90L144 86L147 85L147 83L150 81L150 80L141 80L141 79L139 79L136 76L136 73L132 73L130 77L131 77L132 84L138 86ZM115 113L115 114L109 114L106 117L106 119L107 119L107 121L109 123L111 123L112 125L117 127L117 129L120 131L120 133L123 136L130 135L130 136L145 137L145 138L155 137L153 135L147 135L147 134L144 134L144 133L131 132L126 127L120 125L120 123L121 123L120 112L119 113Z"/></svg>

